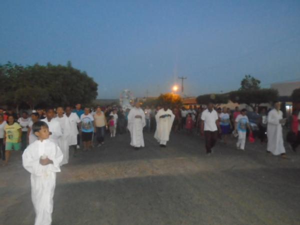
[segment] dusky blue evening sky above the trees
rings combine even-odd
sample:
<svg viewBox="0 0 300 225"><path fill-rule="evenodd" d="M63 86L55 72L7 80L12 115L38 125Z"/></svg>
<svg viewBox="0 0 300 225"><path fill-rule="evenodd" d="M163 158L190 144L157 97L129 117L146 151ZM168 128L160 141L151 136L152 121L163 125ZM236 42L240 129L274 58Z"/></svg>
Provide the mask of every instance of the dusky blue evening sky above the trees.
<svg viewBox="0 0 300 225"><path fill-rule="evenodd" d="M300 0L1 0L0 64L68 60L98 98L300 80Z"/></svg>

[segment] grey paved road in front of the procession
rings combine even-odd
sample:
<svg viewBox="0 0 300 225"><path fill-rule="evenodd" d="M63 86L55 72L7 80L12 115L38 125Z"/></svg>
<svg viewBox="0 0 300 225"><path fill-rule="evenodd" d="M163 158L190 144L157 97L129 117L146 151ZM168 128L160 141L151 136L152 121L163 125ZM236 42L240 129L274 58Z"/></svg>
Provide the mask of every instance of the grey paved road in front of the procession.
<svg viewBox="0 0 300 225"><path fill-rule="evenodd" d="M70 157L57 174L52 224L299 224L300 156L246 151L218 142L205 155L203 139L172 134L159 148L129 146L129 135ZM300 150L300 149L298 149ZM33 224L29 173L20 155L0 168L0 224Z"/></svg>

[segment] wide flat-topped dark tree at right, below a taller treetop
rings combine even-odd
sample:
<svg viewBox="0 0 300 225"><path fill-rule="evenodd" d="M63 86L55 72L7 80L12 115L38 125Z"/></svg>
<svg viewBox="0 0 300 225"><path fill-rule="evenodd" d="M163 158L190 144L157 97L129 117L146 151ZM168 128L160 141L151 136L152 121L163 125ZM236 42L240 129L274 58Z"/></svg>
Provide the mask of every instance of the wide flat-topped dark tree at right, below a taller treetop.
<svg viewBox="0 0 300 225"><path fill-rule="evenodd" d="M229 99L239 104L245 103L254 109L261 103L276 101L278 91L271 88L235 90L229 92Z"/></svg>

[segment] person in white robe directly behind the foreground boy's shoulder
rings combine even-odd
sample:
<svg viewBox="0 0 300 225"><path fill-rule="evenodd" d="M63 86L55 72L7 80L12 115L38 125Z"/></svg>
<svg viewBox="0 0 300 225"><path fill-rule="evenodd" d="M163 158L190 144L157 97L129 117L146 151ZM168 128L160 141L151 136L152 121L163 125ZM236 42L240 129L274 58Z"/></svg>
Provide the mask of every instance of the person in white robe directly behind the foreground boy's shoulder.
<svg viewBox="0 0 300 225"><path fill-rule="evenodd" d="M56 118L54 118L54 109L48 108L46 110L46 117L41 119L40 121L44 121L47 123L50 131L49 140L53 141L54 143L58 144L59 138L62 136L62 131L59 122Z"/></svg>

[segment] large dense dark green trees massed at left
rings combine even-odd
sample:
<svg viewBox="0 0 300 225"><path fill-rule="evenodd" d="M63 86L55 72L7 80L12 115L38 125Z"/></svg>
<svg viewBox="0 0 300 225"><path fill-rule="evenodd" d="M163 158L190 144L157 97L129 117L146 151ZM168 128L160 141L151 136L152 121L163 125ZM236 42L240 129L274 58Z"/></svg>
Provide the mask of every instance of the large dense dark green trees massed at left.
<svg viewBox="0 0 300 225"><path fill-rule="evenodd" d="M82 72L67 65L27 65L8 62L0 65L1 104L26 103L33 108L39 103L47 106L89 104L97 96L97 83Z"/></svg>

